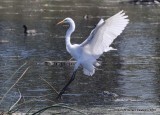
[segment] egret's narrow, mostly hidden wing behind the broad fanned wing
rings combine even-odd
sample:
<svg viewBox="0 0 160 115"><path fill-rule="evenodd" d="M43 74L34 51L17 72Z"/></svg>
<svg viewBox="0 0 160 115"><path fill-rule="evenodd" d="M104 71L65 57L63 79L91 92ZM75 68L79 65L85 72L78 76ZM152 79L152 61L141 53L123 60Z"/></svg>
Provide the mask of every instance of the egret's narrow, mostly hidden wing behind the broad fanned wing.
<svg viewBox="0 0 160 115"><path fill-rule="evenodd" d="M84 45L86 45L92 38L93 38L93 32L94 32L94 30L96 29L96 28L98 28L102 23L104 22L104 19L100 19L100 21L98 22L98 24L96 25L96 27L91 31L91 33L90 33L90 35L88 36L88 38L84 41L84 42L82 42L81 44L80 44L80 46L84 46Z"/></svg>

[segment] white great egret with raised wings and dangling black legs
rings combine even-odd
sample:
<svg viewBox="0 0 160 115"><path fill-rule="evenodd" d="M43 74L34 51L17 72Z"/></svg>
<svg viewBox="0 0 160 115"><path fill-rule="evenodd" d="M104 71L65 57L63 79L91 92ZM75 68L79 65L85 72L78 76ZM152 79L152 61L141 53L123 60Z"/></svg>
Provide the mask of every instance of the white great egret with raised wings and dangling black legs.
<svg viewBox="0 0 160 115"><path fill-rule="evenodd" d="M73 74L69 82L60 91L57 98L65 92L69 84L74 80L78 67L83 67L83 73L92 76L95 73L95 67L100 65L97 59L103 54L114 48L110 47L113 40L122 33L126 25L129 23L128 16L122 11L107 20L101 19L96 27L91 31L88 38L81 44L71 44L70 36L75 30L75 23L71 18L65 18L58 24L67 23L69 29L66 32L65 42L66 49L76 60Z"/></svg>

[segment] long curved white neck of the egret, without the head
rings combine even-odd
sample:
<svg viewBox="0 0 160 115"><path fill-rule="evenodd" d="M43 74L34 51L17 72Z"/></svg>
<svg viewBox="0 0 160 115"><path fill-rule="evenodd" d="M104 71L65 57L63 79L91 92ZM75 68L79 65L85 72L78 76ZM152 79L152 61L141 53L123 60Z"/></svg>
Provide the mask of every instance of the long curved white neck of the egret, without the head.
<svg viewBox="0 0 160 115"><path fill-rule="evenodd" d="M67 47L72 45L70 40L71 40L71 34L74 32L74 30L75 30L75 23L73 20L71 20L69 22L69 29L66 32L66 46Z"/></svg>

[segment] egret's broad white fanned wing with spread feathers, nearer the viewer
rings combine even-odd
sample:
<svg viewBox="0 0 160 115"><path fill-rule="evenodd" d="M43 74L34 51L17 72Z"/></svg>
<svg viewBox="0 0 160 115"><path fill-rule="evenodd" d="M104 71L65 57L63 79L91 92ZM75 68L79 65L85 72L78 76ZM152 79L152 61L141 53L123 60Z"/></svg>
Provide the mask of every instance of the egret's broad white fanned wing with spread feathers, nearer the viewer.
<svg viewBox="0 0 160 115"><path fill-rule="evenodd" d="M111 50L112 47L110 47L110 45L113 40L122 33L129 22L127 17L123 11L120 11L105 20L104 23L100 24L91 33L91 38L89 38L90 40L84 45L83 50L88 54L92 54L96 59L99 58L103 52Z"/></svg>

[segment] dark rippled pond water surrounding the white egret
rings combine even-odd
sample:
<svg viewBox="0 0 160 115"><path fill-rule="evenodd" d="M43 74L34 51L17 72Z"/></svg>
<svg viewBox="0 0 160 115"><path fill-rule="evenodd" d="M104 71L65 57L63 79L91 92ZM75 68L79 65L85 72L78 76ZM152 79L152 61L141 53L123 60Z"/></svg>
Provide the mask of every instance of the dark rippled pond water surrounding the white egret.
<svg viewBox="0 0 160 115"><path fill-rule="evenodd" d="M74 106L159 107L160 82L160 8L156 5L121 4L105 0L1 0L0 1L0 97L30 66L25 76L1 101L0 109L8 110L22 94L21 109L31 105L37 109L57 103L56 93L69 80L73 66L48 67L49 60L69 60L64 35L66 26L56 26L65 17L76 22L73 43L82 42L98 20L124 10L130 23L113 43L117 51L105 53L102 66L93 77L79 69L75 81L58 102ZM85 20L85 15L89 19ZM35 29L36 34L24 36L22 25ZM2 41L3 40L3 41ZM25 62L13 77L13 73ZM109 91L118 95L110 99Z"/></svg>

